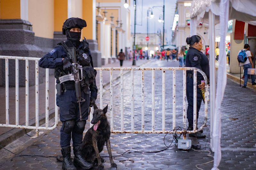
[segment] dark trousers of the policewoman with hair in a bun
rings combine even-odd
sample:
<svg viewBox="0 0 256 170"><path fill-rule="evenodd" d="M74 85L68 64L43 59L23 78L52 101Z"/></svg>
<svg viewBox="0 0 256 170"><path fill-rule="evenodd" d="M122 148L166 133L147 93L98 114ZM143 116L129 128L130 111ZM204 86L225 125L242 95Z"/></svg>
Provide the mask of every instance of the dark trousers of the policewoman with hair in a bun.
<svg viewBox="0 0 256 170"><path fill-rule="evenodd" d="M187 118L188 118L188 126L193 126L193 106L194 106L194 99L193 99L193 78L189 78L187 76L187 100L188 100L188 109L187 109ZM202 95L200 88L197 87L196 89L196 118L198 119L198 113L202 103ZM197 122L196 119L196 122Z"/></svg>

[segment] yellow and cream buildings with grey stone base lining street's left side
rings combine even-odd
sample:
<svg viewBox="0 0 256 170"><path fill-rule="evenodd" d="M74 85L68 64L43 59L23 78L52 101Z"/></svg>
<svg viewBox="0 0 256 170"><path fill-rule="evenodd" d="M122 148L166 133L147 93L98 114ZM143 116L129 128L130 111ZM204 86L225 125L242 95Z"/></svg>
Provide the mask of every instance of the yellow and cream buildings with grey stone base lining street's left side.
<svg viewBox="0 0 256 170"><path fill-rule="evenodd" d="M101 12L99 3L104 8ZM116 51L130 47L130 7L125 9L124 3L125 0L1 0L0 55L43 57L66 40L66 35L62 35L64 21L78 17L87 23L81 38L89 42L94 66L101 67L116 58ZM29 84L33 85L35 64L29 62L29 66ZM0 70L5 72L4 59L0 60ZM19 71L20 85L25 86L25 63L22 61ZM43 72L40 68L40 77ZM9 62L9 76L15 77L15 60ZM0 86L4 86L4 74L0 75L0 80ZM15 79L10 79L9 84L15 86Z"/></svg>

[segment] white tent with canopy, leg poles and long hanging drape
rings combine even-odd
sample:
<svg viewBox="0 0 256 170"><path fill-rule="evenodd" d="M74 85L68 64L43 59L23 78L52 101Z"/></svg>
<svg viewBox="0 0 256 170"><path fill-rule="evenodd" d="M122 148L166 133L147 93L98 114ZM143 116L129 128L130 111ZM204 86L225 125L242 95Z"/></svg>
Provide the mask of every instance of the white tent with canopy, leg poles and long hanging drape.
<svg viewBox="0 0 256 170"><path fill-rule="evenodd" d="M221 160L221 101L226 83L226 52L225 37L227 35L228 20L237 19L256 25L256 0L193 0L190 12L190 36L196 35L196 25L200 22L209 24L210 49L215 48L215 24L220 23L220 62L218 69L217 90L215 91L215 58L210 57L210 114L211 114L211 143L214 151L212 170L218 170ZM210 56L215 56L214 50ZM216 94L216 97L215 97Z"/></svg>

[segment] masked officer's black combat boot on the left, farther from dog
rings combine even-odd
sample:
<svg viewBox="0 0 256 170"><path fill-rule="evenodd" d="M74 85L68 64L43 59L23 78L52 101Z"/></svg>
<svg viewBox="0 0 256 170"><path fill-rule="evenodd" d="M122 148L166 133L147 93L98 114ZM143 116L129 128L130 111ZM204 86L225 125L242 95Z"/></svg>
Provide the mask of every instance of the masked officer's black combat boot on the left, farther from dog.
<svg viewBox="0 0 256 170"><path fill-rule="evenodd" d="M70 152L71 152L70 148L71 148L70 146L61 148L61 153L63 157L62 169L64 170L76 170L76 167L73 165L72 160L70 158Z"/></svg>

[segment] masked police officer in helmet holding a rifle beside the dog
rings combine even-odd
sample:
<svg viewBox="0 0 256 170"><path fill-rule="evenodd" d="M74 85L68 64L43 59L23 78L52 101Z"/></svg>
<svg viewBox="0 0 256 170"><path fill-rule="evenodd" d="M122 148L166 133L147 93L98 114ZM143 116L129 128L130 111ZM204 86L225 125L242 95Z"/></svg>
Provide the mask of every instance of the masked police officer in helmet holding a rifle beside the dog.
<svg viewBox="0 0 256 170"><path fill-rule="evenodd" d="M60 42L39 61L43 68L55 69L57 79L56 103L60 107L60 146L63 156L62 169L90 169L92 164L82 154L83 131L88 119L89 106L97 99L92 55L88 42L80 41L86 22L81 18L68 18L62 27L67 40ZM73 141L74 164L70 159L70 141ZM75 167L75 166L76 167Z"/></svg>

